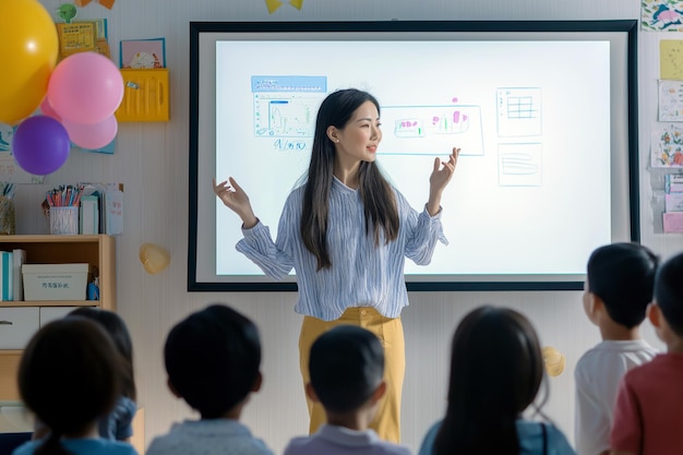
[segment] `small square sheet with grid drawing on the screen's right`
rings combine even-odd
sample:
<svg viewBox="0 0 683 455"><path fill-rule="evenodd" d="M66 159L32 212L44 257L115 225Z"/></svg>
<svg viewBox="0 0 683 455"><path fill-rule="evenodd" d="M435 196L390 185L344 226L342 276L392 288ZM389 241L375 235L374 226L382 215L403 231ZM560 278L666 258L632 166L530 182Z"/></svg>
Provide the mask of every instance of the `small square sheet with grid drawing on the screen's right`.
<svg viewBox="0 0 683 455"><path fill-rule="evenodd" d="M495 107L499 136L536 136L542 133L540 88L499 88Z"/></svg>

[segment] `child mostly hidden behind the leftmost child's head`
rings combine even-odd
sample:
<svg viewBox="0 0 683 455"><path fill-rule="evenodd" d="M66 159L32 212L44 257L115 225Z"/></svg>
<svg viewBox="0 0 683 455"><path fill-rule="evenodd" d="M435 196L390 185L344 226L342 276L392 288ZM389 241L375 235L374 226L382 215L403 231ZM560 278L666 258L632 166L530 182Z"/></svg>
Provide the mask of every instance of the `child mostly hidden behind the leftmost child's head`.
<svg viewBox="0 0 683 455"><path fill-rule="evenodd" d="M108 416L99 419L99 435L105 439L128 441L133 435L133 417L135 405L135 379L133 375L133 342L125 326L125 322L117 313L98 310L91 307L81 307L69 315L87 318L98 323L111 336L117 350L122 357L122 388L121 396Z"/></svg>

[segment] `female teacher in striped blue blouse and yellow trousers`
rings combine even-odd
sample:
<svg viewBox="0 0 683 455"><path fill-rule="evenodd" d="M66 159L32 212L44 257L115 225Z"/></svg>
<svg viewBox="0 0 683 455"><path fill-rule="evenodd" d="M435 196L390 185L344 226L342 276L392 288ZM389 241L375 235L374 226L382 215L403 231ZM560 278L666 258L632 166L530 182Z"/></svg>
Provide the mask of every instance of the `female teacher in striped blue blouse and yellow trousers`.
<svg viewBox="0 0 683 455"><path fill-rule="evenodd" d="M405 258L429 264L445 243L441 195L451 181L459 148L447 161L434 159L429 200L421 213L410 207L375 164L382 140L380 105L355 88L334 92L322 103L305 183L289 194L273 241L254 215L237 181L214 192L242 219L244 238L237 250L275 279L297 274L303 314L299 337L301 375L309 382L313 340L338 324L372 331L385 348L386 395L371 424L380 438L399 442L405 345L400 311L408 304ZM308 398L311 433L325 422L317 403Z"/></svg>

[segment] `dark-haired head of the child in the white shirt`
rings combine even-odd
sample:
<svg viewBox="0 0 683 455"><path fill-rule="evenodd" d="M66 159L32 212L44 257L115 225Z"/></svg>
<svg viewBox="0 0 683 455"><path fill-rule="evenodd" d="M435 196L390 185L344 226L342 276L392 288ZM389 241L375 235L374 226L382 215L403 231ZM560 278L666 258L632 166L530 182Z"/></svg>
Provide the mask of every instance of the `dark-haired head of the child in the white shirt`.
<svg viewBox="0 0 683 455"><path fill-rule="evenodd" d="M612 243L588 259L588 291L602 300L615 323L633 328L652 301L658 258L638 243Z"/></svg>

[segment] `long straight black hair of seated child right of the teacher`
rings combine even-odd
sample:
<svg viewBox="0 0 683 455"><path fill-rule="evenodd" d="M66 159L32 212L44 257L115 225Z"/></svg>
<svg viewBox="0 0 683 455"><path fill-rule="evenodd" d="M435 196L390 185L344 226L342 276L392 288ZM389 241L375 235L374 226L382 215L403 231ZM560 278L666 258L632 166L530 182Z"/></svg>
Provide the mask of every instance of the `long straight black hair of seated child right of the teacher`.
<svg viewBox="0 0 683 455"><path fill-rule="evenodd" d="M517 454L516 420L543 380L536 331L517 311L468 313L453 336L448 407L435 454Z"/></svg>

